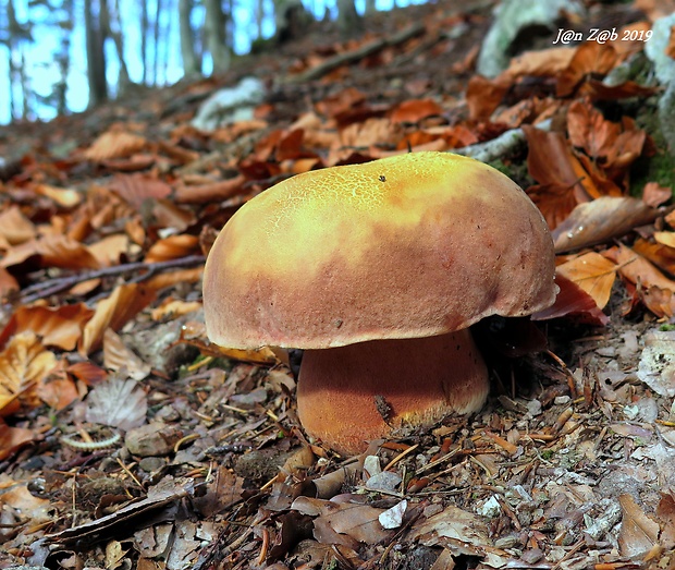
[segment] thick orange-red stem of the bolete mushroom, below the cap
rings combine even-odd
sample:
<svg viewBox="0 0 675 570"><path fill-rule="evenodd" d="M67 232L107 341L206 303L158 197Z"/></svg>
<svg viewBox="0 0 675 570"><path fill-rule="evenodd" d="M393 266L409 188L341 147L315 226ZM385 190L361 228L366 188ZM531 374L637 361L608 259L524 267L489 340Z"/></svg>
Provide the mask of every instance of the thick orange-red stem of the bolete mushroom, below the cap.
<svg viewBox="0 0 675 570"><path fill-rule="evenodd" d="M488 369L468 329L372 340L303 356L297 409L307 433L345 454L407 426L481 408Z"/></svg>

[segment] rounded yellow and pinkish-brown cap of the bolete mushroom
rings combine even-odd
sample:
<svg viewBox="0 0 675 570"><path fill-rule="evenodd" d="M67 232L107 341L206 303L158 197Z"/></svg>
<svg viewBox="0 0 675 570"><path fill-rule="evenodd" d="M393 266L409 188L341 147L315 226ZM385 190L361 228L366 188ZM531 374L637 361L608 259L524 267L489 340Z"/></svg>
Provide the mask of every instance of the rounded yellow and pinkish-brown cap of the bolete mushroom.
<svg viewBox="0 0 675 570"><path fill-rule="evenodd" d="M257 195L209 253L204 308L231 348L419 338L556 293L553 242L506 175L449 153L298 174Z"/></svg>

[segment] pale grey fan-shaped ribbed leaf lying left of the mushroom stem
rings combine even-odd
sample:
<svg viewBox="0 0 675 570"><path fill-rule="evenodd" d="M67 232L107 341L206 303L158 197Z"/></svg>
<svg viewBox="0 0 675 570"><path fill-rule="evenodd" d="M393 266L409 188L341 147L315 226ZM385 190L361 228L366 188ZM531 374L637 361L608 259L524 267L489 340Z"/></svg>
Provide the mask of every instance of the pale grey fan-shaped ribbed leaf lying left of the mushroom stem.
<svg viewBox="0 0 675 570"><path fill-rule="evenodd" d="M87 397L85 419L128 432L145 424L148 401L135 380L110 378L96 386Z"/></svg>

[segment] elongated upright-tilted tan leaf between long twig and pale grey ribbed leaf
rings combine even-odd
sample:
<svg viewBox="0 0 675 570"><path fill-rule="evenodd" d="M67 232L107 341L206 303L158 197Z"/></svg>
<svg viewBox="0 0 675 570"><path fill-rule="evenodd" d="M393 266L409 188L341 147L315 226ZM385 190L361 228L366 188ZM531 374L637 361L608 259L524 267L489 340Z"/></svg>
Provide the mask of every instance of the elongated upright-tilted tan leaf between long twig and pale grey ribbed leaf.
<svg viewBox="0 0 675 570"><path fill-rule="evenodd" d="M110 327L112 330L120 330L126 322L149 305L155 295L152 288L138 283L115 288L108 299L96 305L94 316L84 328L78 344L79 352L86 355L97 350L103 341L106 329Z"/></svg>

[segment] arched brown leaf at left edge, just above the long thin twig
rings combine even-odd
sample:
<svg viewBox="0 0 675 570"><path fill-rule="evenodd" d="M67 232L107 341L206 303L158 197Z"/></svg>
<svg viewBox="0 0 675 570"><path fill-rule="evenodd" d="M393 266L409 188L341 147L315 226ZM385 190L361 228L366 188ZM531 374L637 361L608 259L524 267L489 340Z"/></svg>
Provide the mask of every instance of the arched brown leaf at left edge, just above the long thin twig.
<svg viewBox="0 0 675 570"><path fill-rule="evenodd" d="M65 235L50 235L22 243L10 250L0 265L12 267L37 256L41 267L63 269L98 269L100 267L89 248Z"/></svg>

